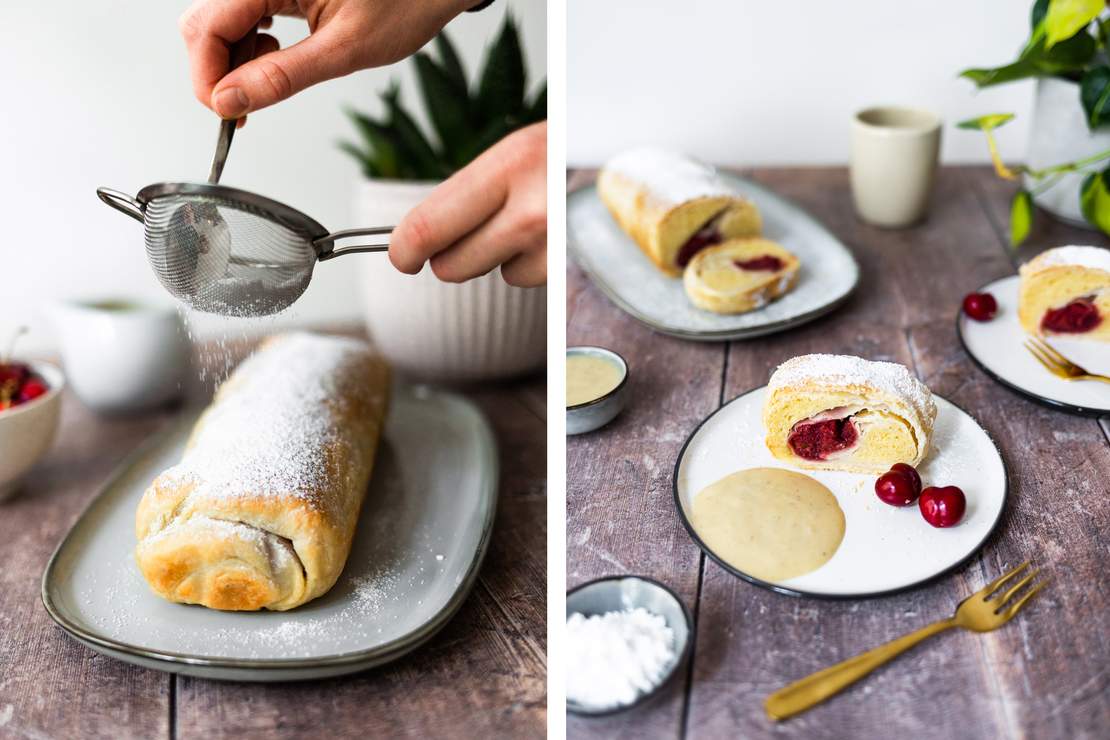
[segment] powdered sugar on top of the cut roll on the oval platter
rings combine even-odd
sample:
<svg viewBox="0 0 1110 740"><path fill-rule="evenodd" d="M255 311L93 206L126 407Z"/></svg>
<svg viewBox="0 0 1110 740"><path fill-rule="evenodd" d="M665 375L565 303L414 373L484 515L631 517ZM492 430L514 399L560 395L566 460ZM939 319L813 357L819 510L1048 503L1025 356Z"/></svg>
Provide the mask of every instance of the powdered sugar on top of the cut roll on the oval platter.
<svg viewBox="0 0 1110 740"><path fill-rule="evenodd" d="M678 205L707 195L737 196L712 166L665 149L628 150L606 162L605 169L643 185L664 205Z"/></svg>

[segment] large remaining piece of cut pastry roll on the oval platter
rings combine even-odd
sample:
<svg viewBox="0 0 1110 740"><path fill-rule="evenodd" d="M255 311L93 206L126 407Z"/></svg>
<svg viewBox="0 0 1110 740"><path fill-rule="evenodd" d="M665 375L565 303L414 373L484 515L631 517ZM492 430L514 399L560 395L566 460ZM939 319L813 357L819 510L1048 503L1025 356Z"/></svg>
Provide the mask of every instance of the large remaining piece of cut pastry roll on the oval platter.
<svg viewBox="0 0 1110 740"><path fill-rule="evenodd" d="M652 262L678 276L700 250L758 236L759 211L716 171L663 149L618 154L597 178L597 193Z"/></svg>

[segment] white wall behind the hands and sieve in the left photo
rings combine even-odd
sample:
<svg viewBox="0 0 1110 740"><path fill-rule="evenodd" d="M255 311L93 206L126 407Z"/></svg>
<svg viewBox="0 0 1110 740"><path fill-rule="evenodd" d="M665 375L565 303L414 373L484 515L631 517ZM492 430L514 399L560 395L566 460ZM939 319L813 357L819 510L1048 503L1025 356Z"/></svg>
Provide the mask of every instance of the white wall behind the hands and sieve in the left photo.
<svg viewBox="0 0 1110 740"><path fill-rule="evenodd" d="M161 181L208 176L218 120L195 101L176 19L185 0L53 0L4 3L0 23L0 339L19 324L27 353L48 352L46 307L65 297L159 300L142 229L103 205L98 185L137 192ZM531 79L546 74L546 7L498 0L450 27L473 74L506 10L523 24ZM305 32L285 19L271 31L289 45ZM319 85L251 116L235 136L223 182L286 202L330 229L350 220L355 163L335 142L353 135L342 110L379 112L390 78L416 101L411 64ZM416 105L411 105L416 108ZM381 255L346 260L381 260ZM282 322L357 317L352 271L321 265ZM221 320L202 333L225 331Z"/></svg>

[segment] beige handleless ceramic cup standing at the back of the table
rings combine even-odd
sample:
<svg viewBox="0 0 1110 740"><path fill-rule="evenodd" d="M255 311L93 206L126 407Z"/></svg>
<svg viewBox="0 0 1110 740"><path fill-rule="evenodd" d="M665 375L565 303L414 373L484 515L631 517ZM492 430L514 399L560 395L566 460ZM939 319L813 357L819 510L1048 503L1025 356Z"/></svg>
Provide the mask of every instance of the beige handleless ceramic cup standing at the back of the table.
<svg viewBox="0 0 1110 740"><path fill-rule="evenodd" d="M851 197L856 213L876 226L920 221L940 152L940 118L929 111L884 105L851 122Z"/></svg>

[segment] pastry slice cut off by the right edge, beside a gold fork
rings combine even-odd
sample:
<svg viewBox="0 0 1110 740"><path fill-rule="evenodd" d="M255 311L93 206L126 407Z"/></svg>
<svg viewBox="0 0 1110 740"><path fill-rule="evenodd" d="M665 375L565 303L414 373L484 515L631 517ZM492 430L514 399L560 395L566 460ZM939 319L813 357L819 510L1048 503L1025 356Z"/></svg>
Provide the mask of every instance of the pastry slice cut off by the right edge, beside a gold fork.
<svg viewBox="0 0 1110 740"><path fill-rule="evenodd" d="M1018 320L1026 332L1110 342L1110 250L1059 246L1020 272Z"/></svg>

